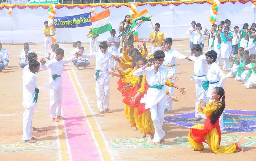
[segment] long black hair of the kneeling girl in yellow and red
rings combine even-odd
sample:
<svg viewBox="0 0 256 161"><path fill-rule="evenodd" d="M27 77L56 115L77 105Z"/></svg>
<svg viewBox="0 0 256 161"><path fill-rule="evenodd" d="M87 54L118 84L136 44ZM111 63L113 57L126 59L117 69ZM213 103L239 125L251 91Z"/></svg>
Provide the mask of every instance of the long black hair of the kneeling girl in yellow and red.
<svg viewBox="0 0 256 161"><path fill-rule="evenodd" d="M225 91L222 87L215 87L217 94L220 95L220 98L225 98ZM217 119L220 117L220 115L223 113L225 109L226 103L225 100L221 102L221 107L219 109L216 109L215 112L211 115L210 122L212 125L214 125L217 121Z"/></svg>

